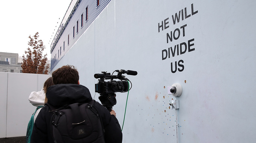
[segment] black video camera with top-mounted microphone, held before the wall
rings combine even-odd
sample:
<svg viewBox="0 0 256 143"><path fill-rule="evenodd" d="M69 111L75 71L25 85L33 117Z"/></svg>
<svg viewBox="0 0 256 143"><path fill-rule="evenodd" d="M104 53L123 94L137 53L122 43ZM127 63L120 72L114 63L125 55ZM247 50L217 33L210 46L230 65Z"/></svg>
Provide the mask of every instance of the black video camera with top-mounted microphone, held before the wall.
<svg viewBox="0 0 256 143"><path fill-rule="evenodd" d="M115 72L115 71L114 71ZM113 73L114 73L113 72ZM94 74L94 77L98 79L98 83L95 84L95 92L99 93L99 100L103 106L105 106L109 111L112 110L112 107L117 104L116 100L116 92L127 92L132 88L132 83L129 79L127 79L124 73L128 75L137 75L137 71L130 70L116 70L117 75L112 75L107 73L106 71L102 71L100 73ZM119 79L120 81L115 81L113 79ZM105 81L110 80L110 81ZM129 83L131 83L131 87L129 89Z"/></svg>

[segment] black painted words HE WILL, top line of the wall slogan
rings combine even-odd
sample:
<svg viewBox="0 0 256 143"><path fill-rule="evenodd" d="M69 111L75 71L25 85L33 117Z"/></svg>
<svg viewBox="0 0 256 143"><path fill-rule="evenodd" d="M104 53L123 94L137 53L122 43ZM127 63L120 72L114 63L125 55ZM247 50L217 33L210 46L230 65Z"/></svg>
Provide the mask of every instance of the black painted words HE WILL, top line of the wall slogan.
<svg viewBox="0 0 256 143"><path fill-rule="evenodd" d="M189 14L189 15L187 15L187 8L184 8L184 10L181 9L181 10L179 11L179 16L178 16L177 13L175 13L175 16L172 15L173 25L176 24L176 21L177 21L177 23L179 23L179 22L180 22L180 18L181 18L181 20L184 20L184 18L187 19L187 18L189 18L190 16L192 16L192 15L194 15L194 14L196 14L196 13L198 13L198 10L197 10L197 11L194 11L193 4L191 4L191 14ZM160 28L162 29L162 31L163 31L164 29L169 28L169 25L168 25L168 24L169 24L169 21L168 21L168 20L169 20L169 17L166 18L165 20L163 20L163 21L161 22L161 25L160 25L160 23L158 23L158 32L160 32Z"/></svg>

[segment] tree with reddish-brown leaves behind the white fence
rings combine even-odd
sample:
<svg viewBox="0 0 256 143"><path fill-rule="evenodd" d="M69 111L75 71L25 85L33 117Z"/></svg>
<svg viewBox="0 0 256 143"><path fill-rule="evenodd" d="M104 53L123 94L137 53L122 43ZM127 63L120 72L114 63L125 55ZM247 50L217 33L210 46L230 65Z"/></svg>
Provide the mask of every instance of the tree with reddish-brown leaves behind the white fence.
<svg viewBox="0 0 256 143"><path fill-rule="evenodd" d="M46 65L47 54L42 55L45 46L43 45L43 41L39 40L38 37L38 32L36 32L33 37L29 36L28 51L25 51L27 56L22 56L23 62L21 67L23 73L48 74L47 69L49 68L49 64ZM32 49L30 47L32 47Z"/></svg>

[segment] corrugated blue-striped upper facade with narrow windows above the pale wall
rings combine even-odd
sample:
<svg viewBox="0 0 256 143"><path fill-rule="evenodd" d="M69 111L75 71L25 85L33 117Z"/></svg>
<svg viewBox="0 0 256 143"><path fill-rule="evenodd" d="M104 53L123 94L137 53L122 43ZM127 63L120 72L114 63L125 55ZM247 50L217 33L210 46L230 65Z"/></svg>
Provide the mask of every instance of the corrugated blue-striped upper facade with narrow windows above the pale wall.
<svg viewBox="0 0 256 143"><path fill-rule="evenodd" d="M110 0L72 0L51 43L51 70L68 53L109 2Z"/></svg>

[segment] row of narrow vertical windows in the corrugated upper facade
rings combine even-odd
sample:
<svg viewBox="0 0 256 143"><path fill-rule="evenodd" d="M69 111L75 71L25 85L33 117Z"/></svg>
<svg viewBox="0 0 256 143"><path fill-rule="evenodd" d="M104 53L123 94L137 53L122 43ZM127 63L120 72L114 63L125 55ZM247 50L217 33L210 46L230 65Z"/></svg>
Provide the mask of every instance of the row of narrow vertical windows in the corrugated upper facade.
<svg viewBox="0 0 256 143"><path fill-rule="evenodd" d="M96 0L97 2L97 6L99 6L99 0ZM83 27L83 19L84 19L84 15L82 13L81 15L81 27ZM85 21L88 20L88 6L85 8ZM76 33L78 33L78 21L76 22ZM73 27L73 38L75 38L75 26ZM69 45L69 34L68 34L68 45ZM63 41L63 51L65 51L65 41ZM58 56L58 57L57 57ZM55 54L55 56L53 57L53 59L51 60L51 66L53 66L53 64L56 62L56 59L59 58L59 56L61 56L61 47L58 50L58 55Z"/></svg>

